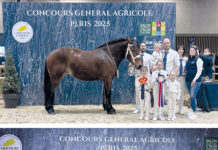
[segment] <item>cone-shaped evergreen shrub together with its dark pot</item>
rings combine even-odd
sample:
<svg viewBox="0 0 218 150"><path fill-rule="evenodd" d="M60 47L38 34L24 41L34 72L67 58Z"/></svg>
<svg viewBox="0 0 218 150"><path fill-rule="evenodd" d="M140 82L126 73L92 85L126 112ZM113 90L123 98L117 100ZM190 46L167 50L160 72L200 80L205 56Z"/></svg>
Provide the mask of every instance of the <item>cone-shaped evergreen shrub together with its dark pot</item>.
<svg viewBox="0 0 218 150"><path fill-rule="evenodd" d="M20 93L20 81L11 56L11 49L8 50L5 64L5 80L2 85L2 94L6 108L16 108Z"/></svg>

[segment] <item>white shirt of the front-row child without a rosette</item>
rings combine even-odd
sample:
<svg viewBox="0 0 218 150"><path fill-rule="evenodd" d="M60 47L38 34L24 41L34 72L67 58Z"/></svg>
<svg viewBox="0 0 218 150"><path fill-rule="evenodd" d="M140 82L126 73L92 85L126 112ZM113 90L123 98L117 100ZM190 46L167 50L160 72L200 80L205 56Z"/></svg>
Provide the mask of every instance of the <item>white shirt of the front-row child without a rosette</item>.
<svg viewBox="0 0 218 150"><path fill-rule="evenodd" d="M180 99L181 96L181 90L180 90L180 84L178 81L172 81L169 80L166 83L166 98L168 98L169 93L176 93L177 99Z"/></svg>

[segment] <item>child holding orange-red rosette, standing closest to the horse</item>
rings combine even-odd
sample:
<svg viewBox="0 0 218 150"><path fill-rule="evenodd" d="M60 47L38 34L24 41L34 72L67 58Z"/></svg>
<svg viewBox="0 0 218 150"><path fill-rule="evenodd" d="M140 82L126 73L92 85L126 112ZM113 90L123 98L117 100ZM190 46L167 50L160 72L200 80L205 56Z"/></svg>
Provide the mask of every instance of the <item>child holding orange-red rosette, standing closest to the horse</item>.
<svg viewBox="0 0 218 150"><path fill-rule="evenodd" d="M139 119L142 120L144 118L145 112L145 120L149 120L149 111L151 105L151 96L150 96L150 77L148 76L146 67L142 67L141 76L137 78L136 86L141 86L140 92L140 117Z"/></svg>

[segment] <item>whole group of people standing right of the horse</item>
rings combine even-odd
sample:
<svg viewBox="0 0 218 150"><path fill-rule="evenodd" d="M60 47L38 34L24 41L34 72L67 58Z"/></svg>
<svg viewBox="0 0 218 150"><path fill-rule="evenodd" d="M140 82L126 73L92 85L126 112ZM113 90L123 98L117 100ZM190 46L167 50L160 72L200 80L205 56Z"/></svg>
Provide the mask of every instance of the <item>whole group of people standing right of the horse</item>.
<svg viewBox="0 0 218 150"><path fill-rule="evenodd" d="M139 70L129 64L129 74L135 76L135 101L139 119L150 120L151 97L153 96L153 120L165 120L163 107L168 106L168 119L176 119L176 103L179 102L179 113L183 113L185 91L188 90L192 111L188 118L196 119L196 96L202 78L210 81L212 78L213 61L210 50L200 50L193 45L189 48L189 56L184 56L185 48L180 45L177 51L171 49L168 38L162 44L155 43L152 55L146 53L146 44L140 44L140 54L143 67ZM206 68L206 69L203 69ZM204 77L202 77L204 76ZM151 92L152 91L152 92Z"/></svg>

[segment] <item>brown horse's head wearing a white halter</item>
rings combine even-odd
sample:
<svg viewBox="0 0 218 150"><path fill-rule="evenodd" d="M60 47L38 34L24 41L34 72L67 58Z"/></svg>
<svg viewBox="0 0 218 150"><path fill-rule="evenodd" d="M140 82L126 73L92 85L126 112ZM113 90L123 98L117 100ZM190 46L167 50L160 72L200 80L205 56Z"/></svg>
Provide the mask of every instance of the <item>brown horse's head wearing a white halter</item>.
<svg viewBox="0 0 218 150"><path fill-rule="evenodd" d="M126 50L126 58L135 65L137 69L142 67L142 60L140 56L140 50L136 39L128 40L128 46Z"/></svg>

